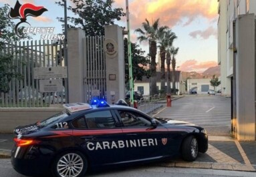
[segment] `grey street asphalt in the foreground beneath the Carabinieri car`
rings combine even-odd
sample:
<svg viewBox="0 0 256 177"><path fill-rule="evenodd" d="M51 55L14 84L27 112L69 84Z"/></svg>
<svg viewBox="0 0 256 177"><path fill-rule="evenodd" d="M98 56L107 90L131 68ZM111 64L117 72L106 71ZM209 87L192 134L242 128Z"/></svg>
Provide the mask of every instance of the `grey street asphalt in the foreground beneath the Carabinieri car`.
<svg viewBox="0 0 256 177"><path fill-rule="evenodd" d="M9 159L0 159L0 176L1 177L25 177L18 174L11 167ZM86 176L92 177L229 177L229 176L244 176L254 177L255 172L237 172L227 170L211 170L211 169L198 169L198 168L166 168L158 166L158 164L150 164L144 166L132 166L130 168L122 168L121 170L111 169L104 172L90 172Z"/></svg>

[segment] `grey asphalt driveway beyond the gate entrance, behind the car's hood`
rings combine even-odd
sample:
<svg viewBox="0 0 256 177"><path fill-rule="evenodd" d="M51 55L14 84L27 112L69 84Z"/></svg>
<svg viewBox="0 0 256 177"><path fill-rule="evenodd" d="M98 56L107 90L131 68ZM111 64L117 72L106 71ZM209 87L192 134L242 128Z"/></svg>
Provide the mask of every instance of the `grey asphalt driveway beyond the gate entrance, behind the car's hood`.
<svg viewBox="0 0 256 177"><path fill-rule="evenodd" d="M171 107L158 110L155 117L183 120L203 126L211 136L230 136L231 98L223 96L185 96Z"/></svg>

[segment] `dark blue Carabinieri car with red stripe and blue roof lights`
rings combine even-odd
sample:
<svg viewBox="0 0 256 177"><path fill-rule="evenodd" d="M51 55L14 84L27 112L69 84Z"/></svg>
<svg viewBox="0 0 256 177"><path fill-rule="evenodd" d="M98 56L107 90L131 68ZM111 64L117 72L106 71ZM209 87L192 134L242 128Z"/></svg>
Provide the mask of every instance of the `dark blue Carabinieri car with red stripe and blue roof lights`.
<svg viewBox="0 0 256 177"><path fill-rule="evenodd" d="M27 176L84 176L88 168L181 156L193 161L208 148L204 128L151 118L128 106L64 104L63 112L17 127L13 168Z"/></svg>

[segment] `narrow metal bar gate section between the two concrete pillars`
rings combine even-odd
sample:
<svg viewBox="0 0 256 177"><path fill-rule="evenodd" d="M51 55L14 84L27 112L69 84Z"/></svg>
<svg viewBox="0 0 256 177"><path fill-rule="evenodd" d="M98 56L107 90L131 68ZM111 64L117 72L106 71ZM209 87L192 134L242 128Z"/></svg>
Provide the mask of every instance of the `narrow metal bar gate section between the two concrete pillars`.
<svg viewBox="0 0 256 177"><path fill-rule="evenodd" d="M106 57L104 36L84 38L84 90L86 102L92 98L106 100Z"/></svg>

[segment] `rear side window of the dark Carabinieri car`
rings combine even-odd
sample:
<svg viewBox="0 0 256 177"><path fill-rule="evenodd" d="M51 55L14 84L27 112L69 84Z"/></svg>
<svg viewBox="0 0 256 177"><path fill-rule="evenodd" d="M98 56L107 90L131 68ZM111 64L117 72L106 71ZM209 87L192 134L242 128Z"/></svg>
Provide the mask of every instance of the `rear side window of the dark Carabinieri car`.
<svg viewBox="0 0 256 177"><path fill-rule="evenodd" d="M95 128L115 128L116 122L109 110L92 112L74 120L72 122L75 128L95 129Z"/></svg>

